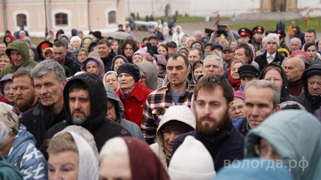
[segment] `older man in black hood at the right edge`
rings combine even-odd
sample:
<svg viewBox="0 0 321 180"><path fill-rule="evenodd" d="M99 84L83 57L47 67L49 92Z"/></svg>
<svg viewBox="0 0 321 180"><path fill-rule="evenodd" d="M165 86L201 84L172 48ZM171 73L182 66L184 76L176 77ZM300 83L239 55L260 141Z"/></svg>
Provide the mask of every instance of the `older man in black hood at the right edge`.
<svg viewBox="0 0 321 180"><path fill-rule="evenodd" d="M321 64L313 64L302 74L304 93L298 96L299 103L308 112L314 113L321 104Z"/></svg>

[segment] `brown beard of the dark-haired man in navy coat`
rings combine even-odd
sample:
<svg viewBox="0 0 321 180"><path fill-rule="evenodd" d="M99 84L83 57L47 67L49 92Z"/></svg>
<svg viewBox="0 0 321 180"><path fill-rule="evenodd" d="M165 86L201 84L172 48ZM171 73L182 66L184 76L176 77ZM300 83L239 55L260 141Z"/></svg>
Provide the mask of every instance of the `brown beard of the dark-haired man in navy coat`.
<svg viewBox="0 0 321 180"><path fill-rule="evenodd" d="M202 135L214 135L218 131L220 131L226 122L229 110L226 109L224 116L221 119L216 119L210 116L202 116L201 118L196 120L196 130L200 132ZM202 124L204 119L210 120L214 122L213 126L209 126L209 124Z"/></svg>

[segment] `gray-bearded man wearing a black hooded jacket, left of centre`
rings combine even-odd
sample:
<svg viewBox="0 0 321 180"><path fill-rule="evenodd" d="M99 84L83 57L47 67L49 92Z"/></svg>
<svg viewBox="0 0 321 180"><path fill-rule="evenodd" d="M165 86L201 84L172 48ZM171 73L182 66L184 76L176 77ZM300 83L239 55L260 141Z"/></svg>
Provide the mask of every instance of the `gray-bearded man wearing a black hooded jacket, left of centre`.
<svg viewBox="0 0 321 180"><path fill-rule="evenodd" d="M66 121L50 128L47 138L53 137L66 126L78 125L86 128L94 136L97 149L104 143L119 135L130 132L113 120L105 118L107 114L107 94L99 76L83 73L71 78L64 89Z"/></svg>

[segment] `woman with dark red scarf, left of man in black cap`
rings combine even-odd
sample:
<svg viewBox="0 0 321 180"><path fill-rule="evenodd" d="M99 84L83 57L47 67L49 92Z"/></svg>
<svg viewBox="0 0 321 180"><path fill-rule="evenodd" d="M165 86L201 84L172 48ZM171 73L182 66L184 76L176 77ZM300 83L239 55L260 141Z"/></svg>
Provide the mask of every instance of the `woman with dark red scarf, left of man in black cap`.
<svg viewBox="0 0 321 180"><path fill-rule="evenodd" d="M239 68L244 65L243 61L240 59L234 59L231 62L230 69L229 69L229 81L232 87L235 90L239 90L240 85L241 85L241 79L239 77L238 70Z"/></svg>

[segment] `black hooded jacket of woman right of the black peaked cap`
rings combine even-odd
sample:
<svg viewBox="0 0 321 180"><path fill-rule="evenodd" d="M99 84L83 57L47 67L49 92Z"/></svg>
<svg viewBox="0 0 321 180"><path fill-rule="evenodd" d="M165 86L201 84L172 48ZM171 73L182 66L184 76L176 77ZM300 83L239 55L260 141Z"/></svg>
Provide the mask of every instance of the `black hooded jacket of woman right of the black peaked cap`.
<svg viewBox="0 0 321 180"><path fill-rule="evenodd" d="M280 98L280 103L282 102L286 102L286 101L295 101L298 102L299 100L292 96L291 94L289 94L289 85L288 85L288 78L286 76L286 73L284 71L284 69L277 64L276 62L270 63L268 64L261 72L259 79L263 79L263 72L265 71L265 69L269 66L279 66L282 70L282 79L283 79L283 84L281 87L281 98Z"/></svg>

